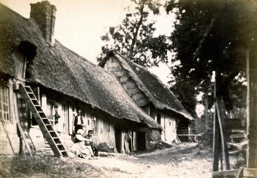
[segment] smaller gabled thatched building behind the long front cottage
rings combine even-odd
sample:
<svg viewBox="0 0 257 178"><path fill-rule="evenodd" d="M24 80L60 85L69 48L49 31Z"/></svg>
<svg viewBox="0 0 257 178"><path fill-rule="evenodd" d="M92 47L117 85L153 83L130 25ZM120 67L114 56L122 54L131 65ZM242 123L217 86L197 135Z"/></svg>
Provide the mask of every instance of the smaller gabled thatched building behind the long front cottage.
<svg viewBox="0 0 257 178"><path fill-rule="evenodd" d="M115 75L124 90L163 128L162 140L177 141L177 134L190 133L191 114L158 77L118 52L109 51L99 66ZM188 137L180 137L186 140Z"/></svg>

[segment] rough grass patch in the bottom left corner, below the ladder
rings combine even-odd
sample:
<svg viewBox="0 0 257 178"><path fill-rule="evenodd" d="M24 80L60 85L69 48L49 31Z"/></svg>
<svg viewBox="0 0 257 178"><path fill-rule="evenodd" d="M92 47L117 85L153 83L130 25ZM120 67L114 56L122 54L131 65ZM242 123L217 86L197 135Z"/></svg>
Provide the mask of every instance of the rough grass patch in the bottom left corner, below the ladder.
<svg viewBox="0 0 257 178"><path fill-rule="evenodd" d="M103 173L90 164L53 156L1 156L0 163L0 177L99 177Z"/></svg>

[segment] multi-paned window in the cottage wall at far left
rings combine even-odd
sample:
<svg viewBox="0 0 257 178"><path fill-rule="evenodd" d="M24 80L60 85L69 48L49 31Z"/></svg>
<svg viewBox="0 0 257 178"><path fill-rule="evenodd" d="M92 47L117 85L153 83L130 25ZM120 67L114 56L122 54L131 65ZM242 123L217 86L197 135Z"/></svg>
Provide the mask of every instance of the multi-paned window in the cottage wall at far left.
<svg viewBox="0 0 257 178"><path fill-rule="evenodd" d="M9 88L0 85L0 114L4 120L11 121L9 106Z"/></svg>

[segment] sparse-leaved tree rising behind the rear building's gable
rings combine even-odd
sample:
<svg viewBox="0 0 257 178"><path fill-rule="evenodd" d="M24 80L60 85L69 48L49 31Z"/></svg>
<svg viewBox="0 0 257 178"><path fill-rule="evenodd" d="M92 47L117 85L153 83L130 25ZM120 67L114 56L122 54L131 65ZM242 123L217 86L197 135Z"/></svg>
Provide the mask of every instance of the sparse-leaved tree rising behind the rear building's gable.
<svg viewBox="0 0 257 178"><path fill-rule="evenodd" d="M119 51L134 62L145 67L156 66L160 61L167 61L168 39L165 35L154 37L155 22L149 20L150 14L159 14L158 1L132 0L135 12L127 13L117 27L101 37L107 44L102 46L100 61L110 49ZM111 45L108 43L111 42Z"/></svg>

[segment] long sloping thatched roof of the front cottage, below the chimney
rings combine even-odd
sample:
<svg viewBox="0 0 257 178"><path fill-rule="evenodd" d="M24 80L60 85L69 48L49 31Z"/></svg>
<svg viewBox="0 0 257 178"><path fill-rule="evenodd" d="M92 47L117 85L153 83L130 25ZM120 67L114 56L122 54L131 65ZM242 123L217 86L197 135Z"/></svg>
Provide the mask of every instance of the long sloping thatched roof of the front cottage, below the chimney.
<svg viewBox="0 0 257 178"><path fill-rule="evenodd" d="M15 76L13 53L22 43L37 48L31 83L81 100L116 118L143 123L151 129L161 127L145 114L125 93L116 78L56 41L45 42L38 26L30 19L0 4L0 72Z"/></svg>

